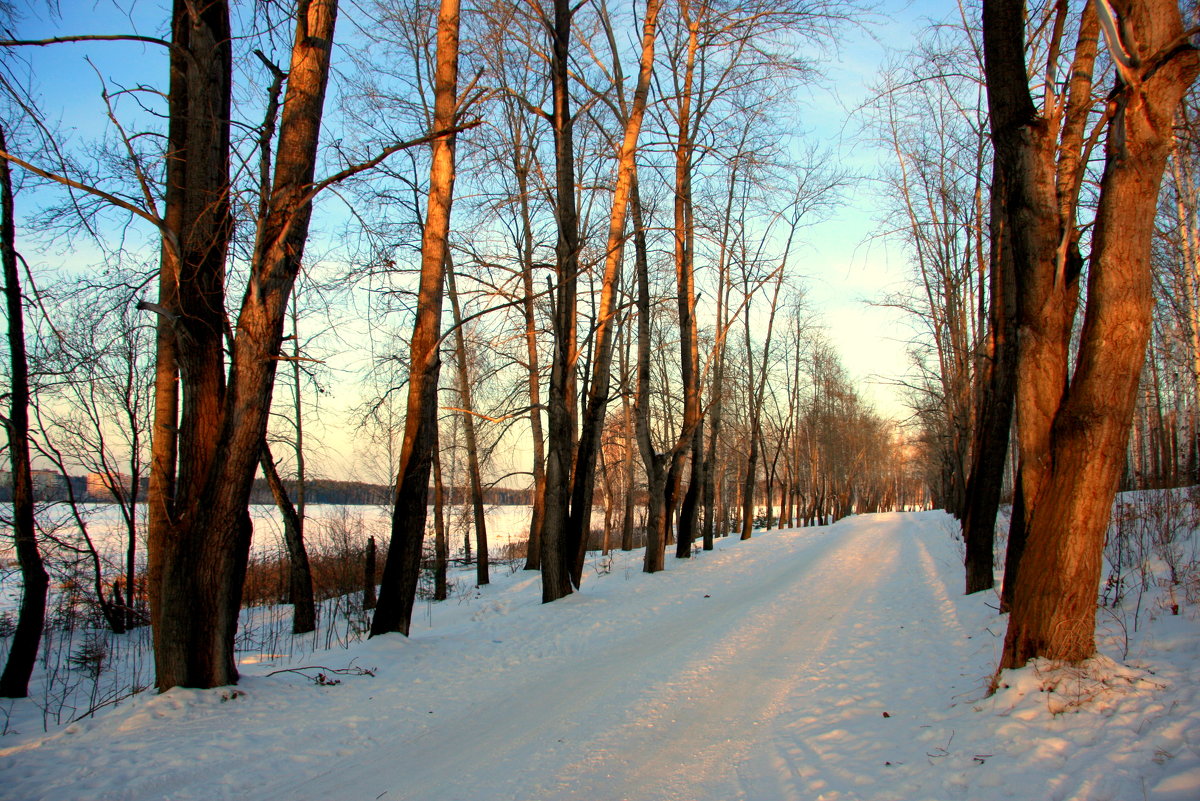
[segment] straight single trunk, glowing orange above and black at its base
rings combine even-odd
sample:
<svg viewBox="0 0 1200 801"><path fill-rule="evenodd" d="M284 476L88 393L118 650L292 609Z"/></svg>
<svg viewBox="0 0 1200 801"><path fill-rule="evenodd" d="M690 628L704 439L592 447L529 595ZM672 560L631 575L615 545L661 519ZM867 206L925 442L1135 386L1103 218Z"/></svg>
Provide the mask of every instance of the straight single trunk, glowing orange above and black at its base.
<svg viewBox="0 0 1200 801"><path fill-rule="evenodd" d="M442 284L449 253L450 206L455 179L455 109L458 86L458 0L442 0L438 11L434 72L433 140L430 195L421 233L421 281L409 356L408 415L400 452L391 514L391 543L384 562L379 603L371 637L408 636L421 570L421 544L430 502L430 466L438 435L438 373L442 367Z"/></svg>

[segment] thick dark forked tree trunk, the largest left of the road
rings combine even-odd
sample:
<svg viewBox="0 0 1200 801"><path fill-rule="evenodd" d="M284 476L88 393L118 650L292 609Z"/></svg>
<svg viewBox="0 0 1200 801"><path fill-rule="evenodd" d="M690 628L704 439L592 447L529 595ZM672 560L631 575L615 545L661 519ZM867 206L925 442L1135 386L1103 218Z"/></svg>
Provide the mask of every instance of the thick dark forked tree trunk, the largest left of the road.
<svg viewBox="0 0 1200 801"><path fill-rule="evenodd" d="M234 634L250 552L247 502L304 255L317 143L332 49L335 0L298 6L271 197L256 231L251 275L224 374L224 258L230 229L229 14L214 0L176 2L173 22L166 249L160 314L174 343L160 350L156 433L172 421L163 386L172 350L181 408L174 438L155 445L150 580L160 689L238 680ZM175 204L178 207L173 207ZM169 452L178 446L172 481ZM170 490L174 489L174 496ZM203 566L203 567L198 567Z"/></svg>

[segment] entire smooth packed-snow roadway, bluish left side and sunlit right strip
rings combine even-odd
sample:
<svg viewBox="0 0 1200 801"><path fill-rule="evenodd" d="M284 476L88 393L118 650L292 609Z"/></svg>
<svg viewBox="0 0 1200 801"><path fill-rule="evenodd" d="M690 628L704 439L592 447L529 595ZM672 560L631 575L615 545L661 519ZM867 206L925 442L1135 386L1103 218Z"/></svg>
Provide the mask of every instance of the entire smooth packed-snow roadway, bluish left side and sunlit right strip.
<svg viewBox="0 0 1200 801"><path fill-rule="evenodd" d="M768 536L787 537L786 559L781 543L756 549L760 541L750 541L689 565L710 571L710 597L655 588L655 606L618 637L544 657L517 687L499 682L500 695L439 716L419 737L263 797L376 797L382 789L388 801L683 801L697 788L706 797L746 797L740 766L761 749L781 700L822 657L830 633L854 614L871 586L864 577L876 574L868 567L880 559L877 534L857 526ZM672 572L684 574L658 578L670 582ZM682 586L695 592L691 580ZM614 598L619 608L602 614L637 615L636 602Z"/></svg>

